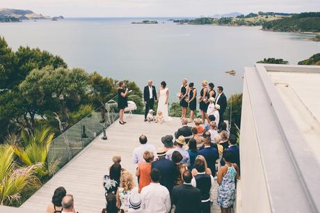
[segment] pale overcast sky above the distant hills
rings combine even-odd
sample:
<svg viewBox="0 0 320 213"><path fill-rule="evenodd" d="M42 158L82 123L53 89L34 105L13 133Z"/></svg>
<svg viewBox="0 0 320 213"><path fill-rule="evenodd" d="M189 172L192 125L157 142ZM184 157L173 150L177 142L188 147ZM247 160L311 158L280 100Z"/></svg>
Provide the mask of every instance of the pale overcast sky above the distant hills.
<svg viewBox="0 0 320 213"><path fill-rule="evenodd" d="M320 0L1 0L0 8L65 17L198 17L232 12L320 11Z"/></svg>

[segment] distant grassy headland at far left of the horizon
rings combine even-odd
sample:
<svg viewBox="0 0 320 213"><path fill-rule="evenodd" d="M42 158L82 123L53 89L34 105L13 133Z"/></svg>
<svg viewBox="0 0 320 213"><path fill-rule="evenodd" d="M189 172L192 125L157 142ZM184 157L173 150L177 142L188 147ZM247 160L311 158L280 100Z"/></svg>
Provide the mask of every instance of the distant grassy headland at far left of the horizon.
<svg viewBox="0 0 320 213"><path fill-rule="evenodd" d="M0 8L0 22L22 22L23 20L51 19L51 17L34 13L31 10L18 10L10 8ZM52 19L63 19L63 16Z"/></svg>

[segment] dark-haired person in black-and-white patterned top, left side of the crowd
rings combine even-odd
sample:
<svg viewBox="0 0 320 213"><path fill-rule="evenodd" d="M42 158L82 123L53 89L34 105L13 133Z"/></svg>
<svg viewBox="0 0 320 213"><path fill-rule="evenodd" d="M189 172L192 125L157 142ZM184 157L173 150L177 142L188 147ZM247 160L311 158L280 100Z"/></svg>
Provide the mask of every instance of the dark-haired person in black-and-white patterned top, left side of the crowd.
<svg viewBox="0 0 320 213"><path fill-rule="evenodd" d="M106 189L106 194L117 193L120 184L121 171L121 165L115 163L110 167L109 175L104 175L104 188Z"/></svg>

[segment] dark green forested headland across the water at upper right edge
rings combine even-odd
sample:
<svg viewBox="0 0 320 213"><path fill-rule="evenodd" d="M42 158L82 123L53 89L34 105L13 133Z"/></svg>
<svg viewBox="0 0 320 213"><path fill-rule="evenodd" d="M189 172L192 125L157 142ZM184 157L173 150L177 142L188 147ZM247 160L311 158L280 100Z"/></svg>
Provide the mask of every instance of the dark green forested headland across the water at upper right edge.
<svg viewBox="0 0 320 213"><path fill-rule="evenodd" d="M280 32L320 32L320 12L300 13L265 22L262 29Z"/></svg>

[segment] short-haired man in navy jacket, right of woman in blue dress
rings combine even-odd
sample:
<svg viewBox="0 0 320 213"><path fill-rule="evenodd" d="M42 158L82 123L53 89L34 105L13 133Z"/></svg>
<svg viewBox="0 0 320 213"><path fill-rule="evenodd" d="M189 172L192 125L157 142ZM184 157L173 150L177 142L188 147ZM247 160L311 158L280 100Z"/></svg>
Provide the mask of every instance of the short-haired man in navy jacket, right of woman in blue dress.
<svg viewBox="0 0 320 213"><path fill-rule="evenodd" d="M211 169L213 176L216 176L216 160L219 158L218 149L211 147L210 145L210 133L205 132L204 134L204 143L205 147L202 150L199 150L198 154L205 157L208 167Z"/></svg>

